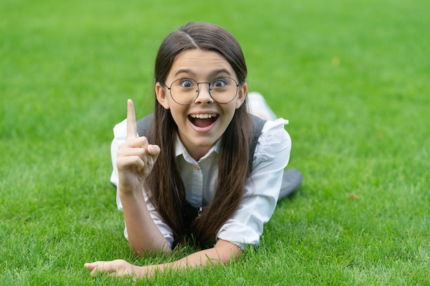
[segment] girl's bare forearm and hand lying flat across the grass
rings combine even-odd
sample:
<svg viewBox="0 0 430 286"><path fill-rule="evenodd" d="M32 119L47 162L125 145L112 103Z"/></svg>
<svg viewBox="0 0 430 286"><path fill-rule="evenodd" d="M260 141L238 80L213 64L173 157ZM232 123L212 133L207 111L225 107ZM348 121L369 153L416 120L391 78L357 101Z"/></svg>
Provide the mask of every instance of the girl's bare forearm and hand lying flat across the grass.
<svg viewBox="0 0 430 286"><path fill-rule="evenodd" d="M233 259L238 259L242 250L236 244L223 239L218 239L214 248L201 250L171 263L158 265L137 266L131 265L124 260L97 261L87 263L85 267L91 271L91 275L107 272L112 276L135 276L137 278L150 278L155 272L166 272L169 270L185 270L194 267L205 267L210 265L228 264Z"/></svg>

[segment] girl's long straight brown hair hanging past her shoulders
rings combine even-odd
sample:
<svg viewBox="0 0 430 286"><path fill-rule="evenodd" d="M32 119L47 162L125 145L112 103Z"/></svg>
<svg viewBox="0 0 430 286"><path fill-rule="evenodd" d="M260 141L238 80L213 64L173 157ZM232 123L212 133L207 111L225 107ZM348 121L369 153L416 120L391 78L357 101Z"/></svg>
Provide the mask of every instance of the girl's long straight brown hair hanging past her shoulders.
<svg viewBox="0 0 430 286"><path fill-rule="evenodd" d="M174 58L188 49L220 53L234 69L240 84L245 83L247 66L238 41L222 27L210 23L188 23L163 40L155 60L155 82L164 84ZM247 167L252 122L246 99L236 110L220 143L218 185L214 199L192 222L188 230L190 233L185 230L185 187L174 154L177 132L178 127L170 110L163 108L155 99L154 120L148 140L161 147L161 154L146 178L145 188L150 202L172 228L176 239L191 234L196 241L204 242L215 235L236 211L249 176Z"/></svg>

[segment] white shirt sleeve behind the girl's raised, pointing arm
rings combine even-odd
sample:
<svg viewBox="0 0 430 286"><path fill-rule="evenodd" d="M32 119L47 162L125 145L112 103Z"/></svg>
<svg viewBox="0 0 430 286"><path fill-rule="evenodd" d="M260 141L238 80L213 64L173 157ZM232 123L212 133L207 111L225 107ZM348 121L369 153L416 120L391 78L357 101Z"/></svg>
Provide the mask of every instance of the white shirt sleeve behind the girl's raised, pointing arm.
<svg viewBox="0 0 430 286"><path fill-rule="evenodd" d="M111 143L111 159L112 159L112 174L111 174L111 182L115 185L117 188L116 193L116 202L117 202L117 208L122 211L122 203L120 200L120 192L118 190L118 169L117 169L117 155L118 155L118 147L120 147L120 144L123 143L126 140L127 136L127 125L126 125L126 119L120 123L118 123L113 128L113 141ZM144 192L144 190L142 189ZM167 243L169 244L170 248L172 248L173 244L173 232L172 229L163 222L163 219L161 219L161 216L159 213L155 210L155 206L153 206L144 192L145 202L146 206L148 207L148 211L151 215L152 220L154 221L155 225L159 228L160 232L163 234L163 236L166 238ZM125 224L124 224L125 225ZM124 237L128 240L128 233L127 233L127 227L124 227Z"/></svg>

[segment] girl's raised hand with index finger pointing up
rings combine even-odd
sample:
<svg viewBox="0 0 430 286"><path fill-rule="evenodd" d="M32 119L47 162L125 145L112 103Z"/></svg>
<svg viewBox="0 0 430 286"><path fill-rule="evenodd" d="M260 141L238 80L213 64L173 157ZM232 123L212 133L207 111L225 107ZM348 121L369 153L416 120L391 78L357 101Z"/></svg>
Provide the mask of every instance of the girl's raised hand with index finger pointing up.
<svg viewBox="0 0 430 286"><path fill-rule="evenodd" d="M146 137L137 136L135 106L128 99L127 136L118 149L117 157L120 191L142 191L144 178L152 171L159 154L158 145L150 145Z"/></svg>

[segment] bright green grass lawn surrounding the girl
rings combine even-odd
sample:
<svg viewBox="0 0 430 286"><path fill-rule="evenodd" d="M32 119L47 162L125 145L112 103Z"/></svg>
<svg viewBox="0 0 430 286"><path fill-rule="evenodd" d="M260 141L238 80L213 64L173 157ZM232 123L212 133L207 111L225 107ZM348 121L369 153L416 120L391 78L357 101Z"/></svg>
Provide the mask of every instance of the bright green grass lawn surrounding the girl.
<svg viewBox="0 0 430 286"><path fill-rule="evenodd" d="M430 285L429 1L233 2L0 2L1 285L122 285L83 264L190 251L135 259L109 182L112 127L152 110L188 21L238 38L304 183L240 261L137 284Z"/></svg>

